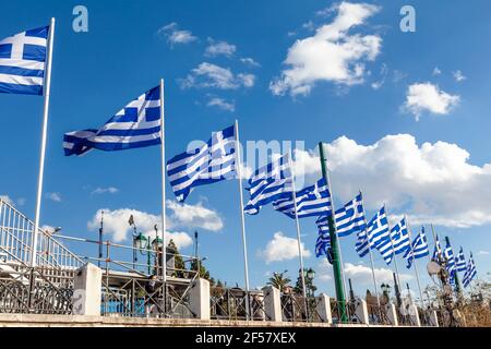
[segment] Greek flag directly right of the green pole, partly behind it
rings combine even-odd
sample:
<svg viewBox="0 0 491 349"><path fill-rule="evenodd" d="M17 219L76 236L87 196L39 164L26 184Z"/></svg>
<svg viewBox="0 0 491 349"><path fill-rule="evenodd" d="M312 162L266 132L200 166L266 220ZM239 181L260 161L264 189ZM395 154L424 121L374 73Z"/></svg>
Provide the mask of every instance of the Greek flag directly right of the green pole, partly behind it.
<svg viewBox="0 0 491 349"><path fill-rule="evenodd" d="M344 207L336 209L335 222L338 237L347 237L366 228L366 218L361 193L347 203ZM328 229L328 216L321 216L315 221L318 227L325 226Z"/></svg>

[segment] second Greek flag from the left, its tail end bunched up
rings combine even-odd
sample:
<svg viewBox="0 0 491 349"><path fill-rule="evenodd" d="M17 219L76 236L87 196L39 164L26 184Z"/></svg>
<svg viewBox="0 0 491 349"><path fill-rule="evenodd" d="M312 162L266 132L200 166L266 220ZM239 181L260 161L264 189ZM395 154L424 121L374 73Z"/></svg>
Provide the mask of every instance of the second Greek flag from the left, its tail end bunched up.
<svg viewBox="0 0 491 349"><path fill-rule="evenodd" d="M160 88L154 87L118 111L100 129L65 133L64 155L91 149L106 152L160 144Z"/></svg>

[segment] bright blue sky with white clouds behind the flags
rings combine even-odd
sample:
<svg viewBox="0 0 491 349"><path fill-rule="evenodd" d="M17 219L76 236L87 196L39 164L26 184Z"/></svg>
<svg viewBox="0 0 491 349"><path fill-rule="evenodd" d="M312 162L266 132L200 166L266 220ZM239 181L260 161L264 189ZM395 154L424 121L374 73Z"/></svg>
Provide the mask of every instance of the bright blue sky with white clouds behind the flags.
<svg viewBox="0 0 491 349"><path fill-rule="evenodd" d="M454 250L474 252L480 276L490 272L487 1L84 1L88 33L72 29L76 4L0 4L0 37L57 19L41 224L96 237L88 222L101 208L113 213L108 230L120 234L124 209L139 210L143 226L158 220L152 216L160 213L158 147L68 158L61 143L64 132L101 125L164 77L167 158L238 119L242 141L303 141L298 171L313 183L315 146L324 141L338 205L362 189L369 216L386 202L391 214L409 216L415 233L434 222ZM416 9L415 33L399 29L404 4ZM358 25L333 25L342 17ZM327 36L318 35L322 27ZM0 96L0 194L29 217L41 107L39 97ZM168 183L167 192L173 200ZM187 201L192 207L171 203L167 210L184 245L182 233L201 232L207 267L229 284L243 280L238 200L237 183L220 182L196 189ZM290 240L283 240L279 257L267 244L277 232L295 238L295 222L265 207L246 224L251 285L285 269L295 278L296 256L267 263L289 256ZM334 294L330 272L313 256L314 220L301 227L311 252L306 265L318 269L320 290ZM342 240L347 275L362 292L371 287L369 261L360 261L354 244L354 237ZM381 278L390 275L378 255L375 264ZM421 275L424 265L418 262Z"/></svg>

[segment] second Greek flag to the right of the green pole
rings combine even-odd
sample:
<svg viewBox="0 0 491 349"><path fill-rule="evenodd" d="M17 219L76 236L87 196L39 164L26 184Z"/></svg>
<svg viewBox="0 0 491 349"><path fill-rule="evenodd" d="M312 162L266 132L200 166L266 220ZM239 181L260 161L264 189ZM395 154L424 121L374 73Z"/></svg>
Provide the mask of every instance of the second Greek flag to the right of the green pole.
<svg viewBox="0 0 491 349"><path fill-rule="evenodd" d="M388 220L385 213L385 206L382 207L376 215L368 222L367 229L358 232L358 240L356 250L360 257L363 257L369 252L369 249L384 249L386 244L391 244L388 234ZM392 250L387 250L384 260L387 264L392 261Z"/></svg>

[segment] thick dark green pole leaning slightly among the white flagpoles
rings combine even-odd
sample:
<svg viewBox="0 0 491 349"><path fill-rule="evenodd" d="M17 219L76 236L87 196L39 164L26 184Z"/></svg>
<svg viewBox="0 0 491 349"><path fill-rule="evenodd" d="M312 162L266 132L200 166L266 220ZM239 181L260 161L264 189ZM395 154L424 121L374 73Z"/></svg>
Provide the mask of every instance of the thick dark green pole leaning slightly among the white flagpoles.
<svg viewBox="0 0 491 349"><path fill-rule="evenodd" d="M322 177L327 182L327 186L330 189L331 196L333 193L331 191L331 183L327 173L327 161L324 155L324 144L322 142L319 143L319 153L321 155L321 168L322 168ZM333 197L331 197L333 200ZM332 205L333 207L333 205ZM334 207L333 214L328 217L328 226L330 226L330 237L331 237L331 249L333 252L333 272L334 272L334 285L336 288L336 299L339 309L339 318L342 323L348 322L348 315L346 310L346 297L345 297L345 288L343 284L343 269L342 269L342 258L339 253L339 242L337 240L336 226L334 225Z"/></svg>

